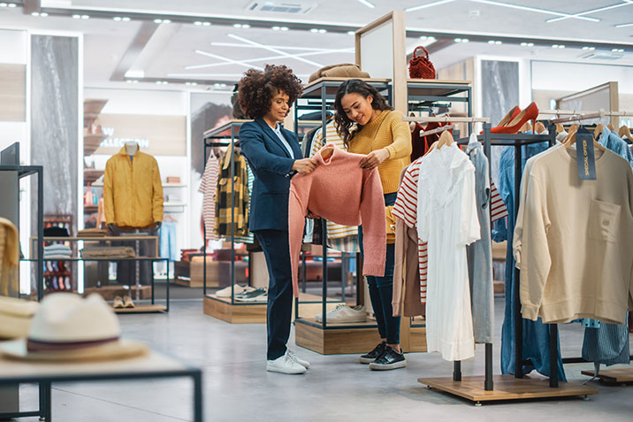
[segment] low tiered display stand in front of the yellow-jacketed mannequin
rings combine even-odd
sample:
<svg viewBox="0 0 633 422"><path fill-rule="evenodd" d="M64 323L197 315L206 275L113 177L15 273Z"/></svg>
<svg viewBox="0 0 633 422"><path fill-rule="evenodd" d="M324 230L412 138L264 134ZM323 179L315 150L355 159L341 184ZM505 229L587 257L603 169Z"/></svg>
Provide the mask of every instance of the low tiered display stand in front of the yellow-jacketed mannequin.
<svg viewBox="0 0 633 422"><path fill-rule="evenodd" d="M38 244L48 242L65 242L65 243L79 243L79 247L82 247L86 243L98 243L100 246L107 245L108 242L121 242L121 241L142 241L142 242L154 242L155 253L153 257L133 257L133 258L120 258L120 257L95 257L95 258L82 258L82 257L68 257L68 258L44 258L38 259L42 256L42 251L38 249ZM76 246L72 246L72 249L77 249ZM169 258L158 257L158 236L72 236L72 237L56 237L56 236L42 236L42 242L38 242L35 237L30 238L30 258L22 259L27 262L42 262L42 268L61 268L64 267L66 271L72 268L74 265L87 262L97 263L111 263L111 262L150 262L152 263L152 271L150 274L149 286L136 283L132 286L126 285L114 285L114 286L101 286L96 288L85 288L84 295L91 293L98 293L103 296L106 301L113 301L114 297L129 295L135 301L133 308L112 308L116 313L153 313L153 312L168 312L169 311L169 288L170 280L165 282L165 296L161 303L157 303L158 300L155 295L155 280L153 264L156 262L165 262L167 265L167 271L169 271ZM77 292L78 288L56 288L54 290L44 289L42 295L45 293L52 293L52 291L73 291ZM112 304L112 303L111 303Z"/></svg>

